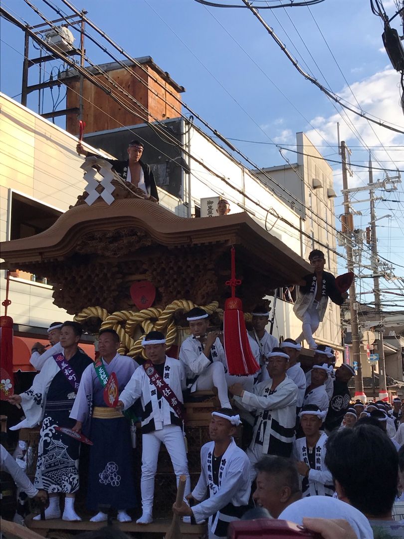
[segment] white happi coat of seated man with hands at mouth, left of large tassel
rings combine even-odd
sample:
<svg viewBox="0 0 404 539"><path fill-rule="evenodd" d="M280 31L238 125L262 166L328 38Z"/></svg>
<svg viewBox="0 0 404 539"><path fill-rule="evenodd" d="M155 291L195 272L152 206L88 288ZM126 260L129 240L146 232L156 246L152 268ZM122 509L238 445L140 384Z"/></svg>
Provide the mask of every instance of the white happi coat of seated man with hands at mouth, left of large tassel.
<svg viewBox="0 0 404 539"><path fill-rule="evenodd" d="M220 361L227 372L227 361L225 350L222 347L220 339L217 338L212 344L211 355L213 361ZM179 361L183 363L187 381L199 376L204 370L209 367L211 361L205 356L204 349L200 340L192 335L187 337L182 343L179 350ZM191 391L196 390L197 381L187 382L187 386Z"/></svg>

